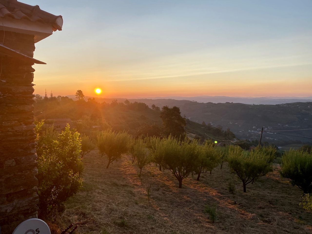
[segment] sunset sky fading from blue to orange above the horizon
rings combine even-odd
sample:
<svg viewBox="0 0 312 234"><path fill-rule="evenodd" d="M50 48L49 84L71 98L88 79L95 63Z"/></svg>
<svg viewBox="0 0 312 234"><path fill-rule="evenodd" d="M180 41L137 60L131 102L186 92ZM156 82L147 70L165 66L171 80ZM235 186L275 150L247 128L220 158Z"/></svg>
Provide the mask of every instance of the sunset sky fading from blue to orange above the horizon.
<svg viewBox="0 0 312 234"><path fill-rule="evenodd" d="M20 0L62 15L35 94L312 96L312 1Z"/></svg>

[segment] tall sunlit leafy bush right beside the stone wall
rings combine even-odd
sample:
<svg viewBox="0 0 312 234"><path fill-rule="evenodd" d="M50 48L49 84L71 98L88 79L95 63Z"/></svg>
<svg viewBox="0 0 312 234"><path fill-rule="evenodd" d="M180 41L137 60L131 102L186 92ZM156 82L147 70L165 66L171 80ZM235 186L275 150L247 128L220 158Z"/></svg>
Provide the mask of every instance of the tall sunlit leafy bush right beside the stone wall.
<svg viewBox="0 0 312 234"><path fill-rule="evenodd" d="M80 134L71 130L69 124L60 134L51 129L45 131L43 123L38 122L35 127L41 217L60 207L80 189L83 172L83 163L79 158Z"/></svg>

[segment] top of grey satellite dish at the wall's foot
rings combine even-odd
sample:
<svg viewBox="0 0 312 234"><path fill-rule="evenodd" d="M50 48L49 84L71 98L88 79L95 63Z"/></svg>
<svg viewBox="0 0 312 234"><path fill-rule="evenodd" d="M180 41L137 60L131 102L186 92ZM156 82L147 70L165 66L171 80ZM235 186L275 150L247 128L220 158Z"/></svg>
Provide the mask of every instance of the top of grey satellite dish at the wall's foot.
<svg viewBox="0 0 312 234"><path fill-rule="evenodd" d="M12 234L51 234L49 226L41 219L27 219Z"/></svg>

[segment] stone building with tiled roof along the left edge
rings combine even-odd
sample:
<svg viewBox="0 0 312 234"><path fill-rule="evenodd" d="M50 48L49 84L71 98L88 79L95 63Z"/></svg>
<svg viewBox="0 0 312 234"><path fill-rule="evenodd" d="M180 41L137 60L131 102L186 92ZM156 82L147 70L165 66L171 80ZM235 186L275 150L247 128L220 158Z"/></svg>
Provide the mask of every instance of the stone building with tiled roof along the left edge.
<svg viewBox="0 0 312 234"><path fill-rule="evenodd" d="M0 0L0 227L37 217L33 113L35 43L62 30L63 19L17 0Z"/></svg>

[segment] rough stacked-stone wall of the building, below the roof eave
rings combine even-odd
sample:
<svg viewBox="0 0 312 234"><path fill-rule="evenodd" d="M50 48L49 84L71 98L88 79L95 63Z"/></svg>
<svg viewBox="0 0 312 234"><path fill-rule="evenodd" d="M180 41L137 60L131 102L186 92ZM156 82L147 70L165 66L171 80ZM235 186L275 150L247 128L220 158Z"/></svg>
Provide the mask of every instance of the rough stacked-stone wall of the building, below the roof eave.
<svg viewBox="0 0 312 234"><path fill-rule="evenodd" d="M0 31L2 44L3 31ZM34 36L5 32L5 46L33 56ZM0 227L11 234L37 217L37 163L32 64L0 56Z"/></svg>

